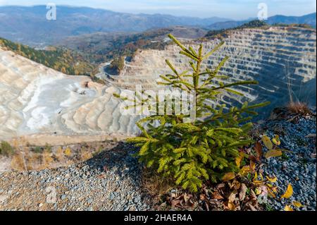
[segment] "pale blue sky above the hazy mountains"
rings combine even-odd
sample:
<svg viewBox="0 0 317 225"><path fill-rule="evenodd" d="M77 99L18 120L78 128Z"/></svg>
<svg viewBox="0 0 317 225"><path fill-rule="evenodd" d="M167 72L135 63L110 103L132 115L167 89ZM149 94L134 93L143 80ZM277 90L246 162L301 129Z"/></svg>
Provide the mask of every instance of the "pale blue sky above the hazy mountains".
<svg viewBox="0 0 317 225"><path fill-rule="evenodd" d="M258 4L266 3L268 16L302 16L316 12L315 0L0 0L0 5L63 4L106 8L125 13L168 13L201 18L219 16L233 19L254 18Z"/></svg>

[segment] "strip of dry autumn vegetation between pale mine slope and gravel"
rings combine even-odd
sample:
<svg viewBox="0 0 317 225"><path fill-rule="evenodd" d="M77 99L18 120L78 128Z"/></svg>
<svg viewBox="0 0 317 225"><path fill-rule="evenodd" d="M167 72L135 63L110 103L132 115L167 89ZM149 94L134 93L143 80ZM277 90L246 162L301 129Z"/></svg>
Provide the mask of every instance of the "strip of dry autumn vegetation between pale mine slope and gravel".
<svg viewBox="0 0 317 225"><path fill-rule="evenodd" d="M114 142L91 142L66 146L32 146L24 140L14 140L12 145L1 142L1 154L11 159L15 171L51 169L70 166L88 159L107 149Z"/></svg>

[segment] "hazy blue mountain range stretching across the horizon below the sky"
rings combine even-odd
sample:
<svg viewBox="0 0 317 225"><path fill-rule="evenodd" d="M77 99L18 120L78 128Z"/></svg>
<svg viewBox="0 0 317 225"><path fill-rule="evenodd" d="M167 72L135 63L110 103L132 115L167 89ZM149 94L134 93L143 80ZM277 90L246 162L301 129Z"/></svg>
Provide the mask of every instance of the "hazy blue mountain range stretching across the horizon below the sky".
<svg viewBox="0 0 317 225"><path fill-rule="evenodd" d="M142 32L175 25L222 29L246 21L229 18L191 18L163 14L116 13L104 9L58 6L57 20L46 20L46 6L1 6L0 37L31 46L58 44L70 36L95 32ZM316 26L316 13L302 17L273 16L269 23L308 23Z"/></svg>

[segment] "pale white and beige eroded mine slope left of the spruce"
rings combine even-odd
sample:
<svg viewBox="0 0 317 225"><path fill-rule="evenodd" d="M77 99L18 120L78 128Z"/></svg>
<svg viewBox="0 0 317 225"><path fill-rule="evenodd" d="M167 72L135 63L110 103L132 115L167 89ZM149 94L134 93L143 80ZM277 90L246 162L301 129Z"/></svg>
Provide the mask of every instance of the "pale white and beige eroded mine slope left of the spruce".
<svg viewBox="0 0 317 225"><path fill-rule="evenodd" d="M135 133L113 91L0 49L0 136Z"/></svg>

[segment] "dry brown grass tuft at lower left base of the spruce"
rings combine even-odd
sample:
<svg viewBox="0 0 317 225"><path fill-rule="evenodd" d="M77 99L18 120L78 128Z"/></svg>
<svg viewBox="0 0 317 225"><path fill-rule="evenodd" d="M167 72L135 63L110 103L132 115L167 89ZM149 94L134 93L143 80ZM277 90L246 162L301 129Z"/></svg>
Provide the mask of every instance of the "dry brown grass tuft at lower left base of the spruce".
<svg viewBox="0 0 317 225"><path fill-rule="evenodd" d="M142 187L153 197L154 204L161 201L161 197L173 189L171 178L164 178L153 169L145 168L142 171Z"/></svg>

